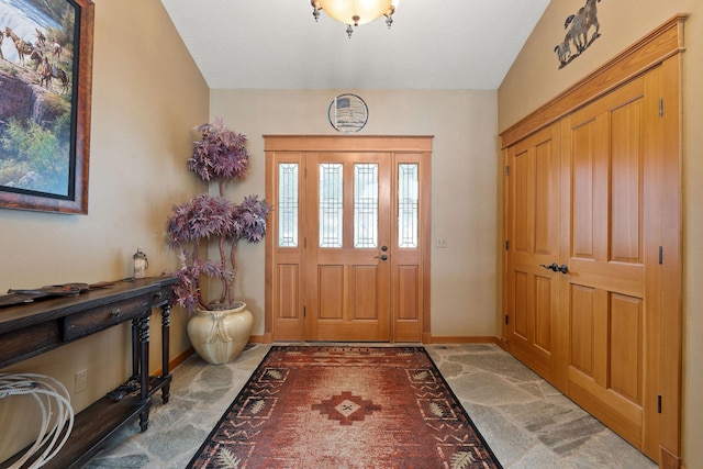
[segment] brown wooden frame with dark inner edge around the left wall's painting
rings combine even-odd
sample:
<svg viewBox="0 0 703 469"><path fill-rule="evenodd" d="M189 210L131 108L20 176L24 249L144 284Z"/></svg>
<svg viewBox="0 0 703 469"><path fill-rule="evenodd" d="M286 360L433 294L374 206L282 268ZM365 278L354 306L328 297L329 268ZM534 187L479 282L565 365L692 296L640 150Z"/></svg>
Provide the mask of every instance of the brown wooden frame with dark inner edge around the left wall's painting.
<svg viewBox="0 0 703 469"><path fill-rule="evenodd" d="M65 181L67 193L48 193L0 185L0 209L66 214L88 213L94 3L92 0L60 1L67 3L75 12L71 44L70 124L69 129L65 131L66 134L63 135L68 138L68 169ZM29 0L15 0L15 3L30 4ZM5 38L10 40L10 35L5 33L4 29L2 33L5 34ZM51 82L51 77L48 81Z"/></svg>

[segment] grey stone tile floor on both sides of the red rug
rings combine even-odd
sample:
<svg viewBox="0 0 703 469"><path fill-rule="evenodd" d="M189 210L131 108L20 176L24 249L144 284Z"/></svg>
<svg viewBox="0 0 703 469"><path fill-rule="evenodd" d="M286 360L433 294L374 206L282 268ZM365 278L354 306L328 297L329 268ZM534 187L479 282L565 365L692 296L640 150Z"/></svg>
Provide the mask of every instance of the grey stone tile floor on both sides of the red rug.
<svg viewBox="0 0 703 469"><path fill-rule="evenodd" d="M657 467L500 347L425 348L503 467ZM136 423L125 425L85 467L185 468L268 349L250 345L222 366L188 358L172 370L169 403L163 405L155 397L148 431L140 433Z"/></svg>

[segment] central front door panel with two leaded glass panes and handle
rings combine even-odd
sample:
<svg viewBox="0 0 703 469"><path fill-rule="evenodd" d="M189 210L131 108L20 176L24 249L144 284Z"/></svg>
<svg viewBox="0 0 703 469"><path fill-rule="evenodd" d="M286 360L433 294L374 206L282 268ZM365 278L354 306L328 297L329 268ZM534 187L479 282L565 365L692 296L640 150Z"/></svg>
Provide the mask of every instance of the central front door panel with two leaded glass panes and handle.
<svg viewBox="0 0 703 469"><path fill-rule="evenodd" d="M389 340L390 155L309 154L305 338Z"/></svg>

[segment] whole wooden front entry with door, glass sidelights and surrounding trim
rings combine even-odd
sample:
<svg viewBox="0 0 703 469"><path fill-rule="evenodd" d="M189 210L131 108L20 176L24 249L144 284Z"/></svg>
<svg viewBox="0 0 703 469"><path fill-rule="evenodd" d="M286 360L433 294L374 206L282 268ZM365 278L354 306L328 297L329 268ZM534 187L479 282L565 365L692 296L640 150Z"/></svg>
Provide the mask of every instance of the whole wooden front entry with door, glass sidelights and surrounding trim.
<svg viewBox="0 0 703 469"><path fill-rule="evenodd" d="M432 137L267 136L272 340L429 335Z"/></svg>

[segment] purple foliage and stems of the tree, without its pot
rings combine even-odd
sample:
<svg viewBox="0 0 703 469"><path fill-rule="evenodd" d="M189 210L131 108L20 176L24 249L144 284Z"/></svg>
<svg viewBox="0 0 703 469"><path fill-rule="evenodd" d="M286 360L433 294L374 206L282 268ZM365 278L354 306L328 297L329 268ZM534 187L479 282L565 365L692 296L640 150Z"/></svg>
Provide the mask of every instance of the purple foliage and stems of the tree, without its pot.
<svg viewBox="0 0 703 469"><path fill-rule="evenodd" d="M271 206L257 196L248 196L239 204L224 197L227 181L246 177L249 154L246 137L227 129L221 119L197 127L196 142L188 169L203 181L217 181L219 196L201 193L189 202L174 205L167 220L168 244L178 253L180 269L174 287L176 301L189 313L200 310L233 308L234 281L237 272L236 248L239 239L258 243L266 233L266 217ZM217 243L220 258L207 259L210 243ZM208 302L201 286L204 277L219 279L219 301Z"/></svg>

